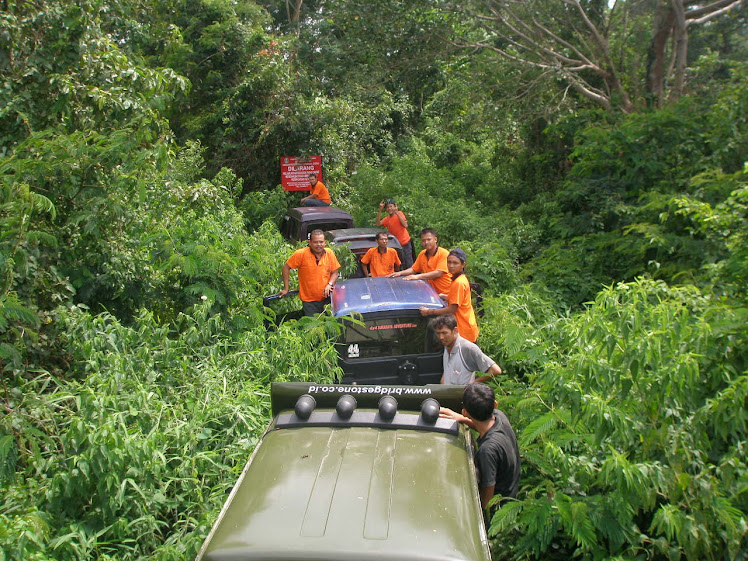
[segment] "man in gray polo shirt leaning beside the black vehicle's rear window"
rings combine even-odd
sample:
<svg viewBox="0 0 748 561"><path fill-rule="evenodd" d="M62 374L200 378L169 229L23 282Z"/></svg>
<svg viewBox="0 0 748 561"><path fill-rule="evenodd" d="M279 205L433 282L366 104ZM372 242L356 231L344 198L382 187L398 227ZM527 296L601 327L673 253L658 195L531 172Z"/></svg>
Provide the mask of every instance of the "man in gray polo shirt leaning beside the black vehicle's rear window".
<svg viewBox="0 0 748 561"><path fill-rule="evenodd" d="M460 337L457 319L453 315L437 316L429 322L429 327L444 345L442 384L485 382L501 374L496 361L487 357L478 345ZM485 375L476 378L476 372L484 372Z"/></svg>

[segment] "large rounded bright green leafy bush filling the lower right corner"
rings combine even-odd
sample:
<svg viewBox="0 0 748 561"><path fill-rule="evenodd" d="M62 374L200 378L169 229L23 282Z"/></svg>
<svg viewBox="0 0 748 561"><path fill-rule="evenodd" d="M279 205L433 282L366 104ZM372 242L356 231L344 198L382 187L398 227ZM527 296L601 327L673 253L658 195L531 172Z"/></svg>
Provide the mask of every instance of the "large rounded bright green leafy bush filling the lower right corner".
<svg viewBox="0 0 748 561"><path fill-rule="evenodd" d="M509 410L526 477L491 522L510 544L502 556L740 558L744 316L695 288L640 281L558 324L534 389Z"/></svg>

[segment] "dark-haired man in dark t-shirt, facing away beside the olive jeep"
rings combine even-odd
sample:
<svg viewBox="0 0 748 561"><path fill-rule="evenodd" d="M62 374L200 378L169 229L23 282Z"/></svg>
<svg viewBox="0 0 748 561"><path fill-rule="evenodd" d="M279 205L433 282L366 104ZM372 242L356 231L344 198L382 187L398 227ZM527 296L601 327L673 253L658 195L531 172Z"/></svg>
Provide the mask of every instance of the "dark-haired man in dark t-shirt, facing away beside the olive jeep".
<svg viewBox="0 0 748 561"><path fill-rule="evenodd" d="M506 415L495 409L496 396L486 384L469 384L462 396L462 414L442 407L440 415L478 431L478 491L485 509L494 495L516 497L520 457L517 437Z"/></svg>

